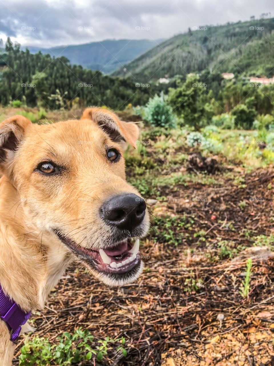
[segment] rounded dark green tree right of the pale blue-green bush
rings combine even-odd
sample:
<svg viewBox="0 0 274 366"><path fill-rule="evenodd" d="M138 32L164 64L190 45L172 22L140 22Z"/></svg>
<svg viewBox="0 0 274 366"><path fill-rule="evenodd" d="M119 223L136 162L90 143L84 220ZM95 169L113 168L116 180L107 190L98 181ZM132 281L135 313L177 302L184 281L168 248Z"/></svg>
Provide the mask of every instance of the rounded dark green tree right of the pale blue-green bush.
<svg viewBox="0 0 274 366"><path fill-rule="evenodd" d="M181 87L170 89L168 101L185 125L198 129L210 124L214 112L208 103L206 85L199 82L197 75L188 75Z"/></svg>

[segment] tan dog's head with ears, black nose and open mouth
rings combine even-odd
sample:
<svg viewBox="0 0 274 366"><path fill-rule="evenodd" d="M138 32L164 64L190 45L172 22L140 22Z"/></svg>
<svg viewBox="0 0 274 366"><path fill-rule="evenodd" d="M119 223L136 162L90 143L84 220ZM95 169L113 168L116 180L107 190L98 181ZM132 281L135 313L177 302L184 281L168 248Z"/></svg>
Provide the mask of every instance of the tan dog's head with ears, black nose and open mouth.
<svg viewBox="0 0 274 366"><path fill-rule="evenodd" d="M0 124L0 169L24 216L109 285L129 283L142 270L139 239L149 218L125 180L123 158L137 137L136 124L100 108L80 120L37 125L15 116Z"/></svg>

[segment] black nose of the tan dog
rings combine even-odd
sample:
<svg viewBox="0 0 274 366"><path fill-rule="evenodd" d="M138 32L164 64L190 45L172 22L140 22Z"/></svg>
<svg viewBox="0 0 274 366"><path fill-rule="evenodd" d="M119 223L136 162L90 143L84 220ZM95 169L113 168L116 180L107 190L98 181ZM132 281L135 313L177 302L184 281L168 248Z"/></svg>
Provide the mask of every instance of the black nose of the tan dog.
<svg viewBox="0 0 274 366"><path fill-rule="evenodd" d="M138 226L145 216L146 204L143 198L129 193L117 195L104 202L100 208L102 218L108 225L119 229L132 230Z"/></svg>

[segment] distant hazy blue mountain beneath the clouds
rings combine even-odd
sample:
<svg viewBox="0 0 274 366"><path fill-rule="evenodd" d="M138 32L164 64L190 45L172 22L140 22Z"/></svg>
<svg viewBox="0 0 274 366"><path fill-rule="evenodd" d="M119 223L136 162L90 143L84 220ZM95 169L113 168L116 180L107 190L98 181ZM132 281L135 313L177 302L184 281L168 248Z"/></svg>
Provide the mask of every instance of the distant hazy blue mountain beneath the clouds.
<svg viewBox="0 0 274 366"><path fill-rule="evenodd" d="M81 65L91 70L100 70L105 74L113 72L121 65L134 60L142 53L153 48L163 40L105 40L80 45L39 48L27 46L30 53L41 51L50 56L65 56L71 64ZM26 49L26 47L22 47Z"/></svg>

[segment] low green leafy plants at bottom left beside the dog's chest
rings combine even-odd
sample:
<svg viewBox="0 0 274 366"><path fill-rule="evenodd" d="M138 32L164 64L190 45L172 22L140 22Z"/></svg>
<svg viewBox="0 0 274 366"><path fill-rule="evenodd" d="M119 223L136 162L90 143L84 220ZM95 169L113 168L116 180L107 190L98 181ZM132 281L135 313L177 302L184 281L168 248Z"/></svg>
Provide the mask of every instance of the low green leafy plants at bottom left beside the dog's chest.
<svg viewBox="0 0 274 366"><path fill-rule="evenodd" d="M95 346L96 344L96 346ZM117 347L117 344L119 346ZM51 344L47 338L34 337L32 340L26 338L19 356L19 366L70 366L90 365L91 358L102 361L107 352L113 347L116 352L126 356L123 347L125 339L110 339L94 341L94 336L87 330L76 329L74 334L63 333Z"/></svg>

